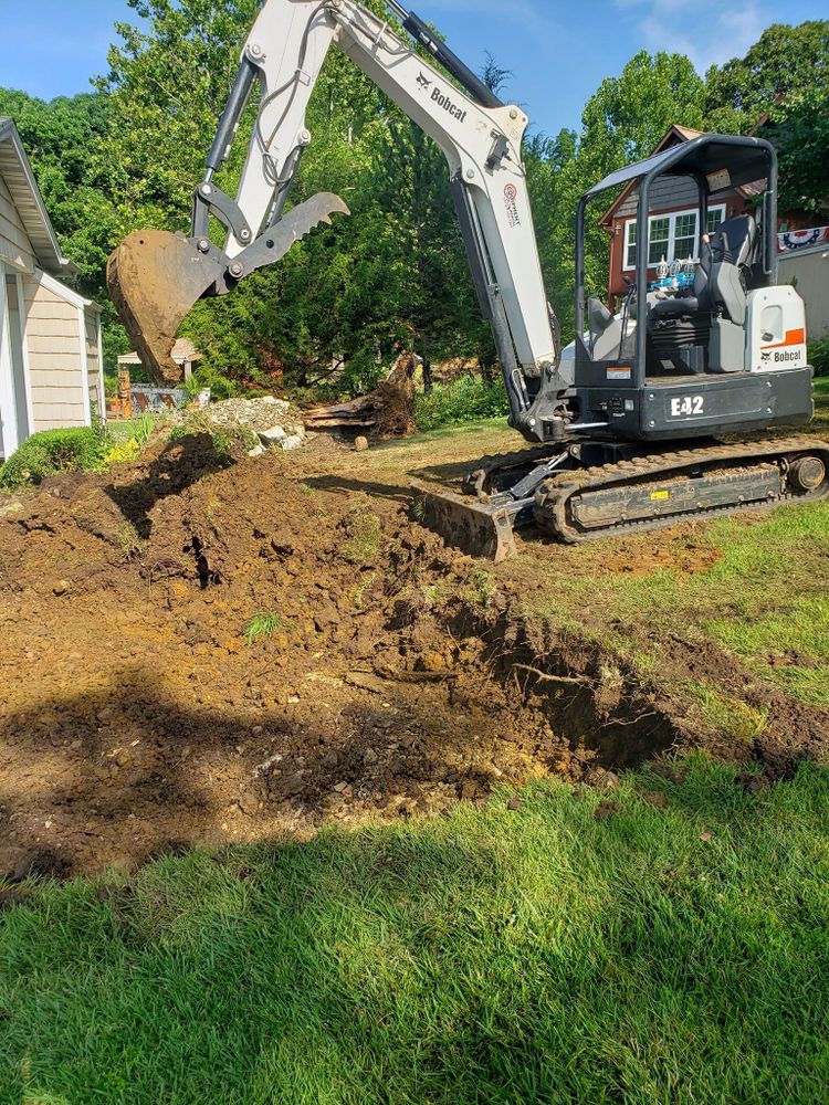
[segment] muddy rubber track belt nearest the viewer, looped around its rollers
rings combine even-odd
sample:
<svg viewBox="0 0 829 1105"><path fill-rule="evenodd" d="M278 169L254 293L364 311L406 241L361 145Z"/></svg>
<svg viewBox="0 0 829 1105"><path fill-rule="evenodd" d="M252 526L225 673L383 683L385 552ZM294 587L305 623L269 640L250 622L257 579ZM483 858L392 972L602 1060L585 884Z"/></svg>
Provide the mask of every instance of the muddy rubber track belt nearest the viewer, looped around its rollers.
<svg viewBox="0 0 829 1105"><path fill-rule="evenodd" d="M655 453L648 456L634 457L630 461L619 461L616 464L606 464L601 467L585 469L584 471L566 473L566 480L555 477L546 480L536 492L535 496L535 520L538 528L547 536L566 541L568 545L578 545L585 541L597 540L602 537L620 536L630 533L649 533L655 529L668 529L681 522L689 519L702 519L717 517L726 514L737 514L742 512L756 513L763 509L774 509L789 502L809 503L829 495L829 481L815 492L802 494L780 494L778 498L768 503L746 503L733 506L710 507L704 511L684 511L660 518L643 518L634 522L618 522L611 526L596 529L581 530L573 523L568 515L567 505L574 495L584 494L589 491L600 491L613 485L620 485L627 481L636 481L639 484L642 480L654 477L654 483L661 483L664 478L681 476L684 471L696 467L700 464L734 464L741 465L754 463L755 461L779 461L791 454L822 454L822 459L829 470L829 442L817 438L801 435L797 438L778 438L756 442L737 442L734 444L714 444L702 449L685 449L679 452Z"/></svg>

